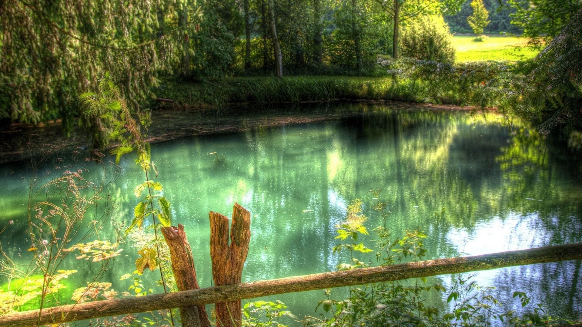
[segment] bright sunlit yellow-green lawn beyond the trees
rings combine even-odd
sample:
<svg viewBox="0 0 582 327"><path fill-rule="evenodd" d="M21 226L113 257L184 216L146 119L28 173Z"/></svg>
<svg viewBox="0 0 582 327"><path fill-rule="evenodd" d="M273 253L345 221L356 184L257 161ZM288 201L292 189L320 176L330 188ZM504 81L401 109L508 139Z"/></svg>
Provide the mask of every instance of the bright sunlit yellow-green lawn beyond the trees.
<svg viewBox="0 0 582 327"><path fill-rule="evenodd" d="M456 50L456 61L517 61L534 58L539 51L526 46L527 38L489 36L482 42L473 41L473 36L455 36L452 45Z"/></svg>

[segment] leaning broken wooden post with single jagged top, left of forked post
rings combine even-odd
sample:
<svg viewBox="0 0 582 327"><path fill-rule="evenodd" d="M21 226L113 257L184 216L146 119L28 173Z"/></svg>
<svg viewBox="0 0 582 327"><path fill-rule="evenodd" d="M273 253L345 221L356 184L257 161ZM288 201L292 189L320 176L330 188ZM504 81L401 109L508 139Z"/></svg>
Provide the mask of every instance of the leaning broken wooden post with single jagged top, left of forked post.
<svg viewBox="0 0 582 327"><path fill-rule="evenodd" d="M178 224L178 228L163 227L162 234L170 249L172 258L172 271L179 291L199 289L196 280L196 269L190 244L184 232L184 226ZM210 320L204 309L204 305L193 307L180 307L180 317L184 327L210 327Z"/></svg>

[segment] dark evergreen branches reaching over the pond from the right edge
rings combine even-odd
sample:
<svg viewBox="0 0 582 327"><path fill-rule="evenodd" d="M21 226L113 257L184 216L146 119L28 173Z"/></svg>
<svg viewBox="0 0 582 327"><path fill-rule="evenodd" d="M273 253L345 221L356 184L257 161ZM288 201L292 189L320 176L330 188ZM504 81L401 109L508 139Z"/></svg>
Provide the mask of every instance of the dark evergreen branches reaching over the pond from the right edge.
<svg viewBox="0 0 582 327"><path fill-rule="evenodd" d="M424 80L418 99L440 102L449 93L485 111L496 106L508 116L540 124L540 133L582 128L582 9L531 62L468 63L462 66L381 58L413 80Z"/></svg>

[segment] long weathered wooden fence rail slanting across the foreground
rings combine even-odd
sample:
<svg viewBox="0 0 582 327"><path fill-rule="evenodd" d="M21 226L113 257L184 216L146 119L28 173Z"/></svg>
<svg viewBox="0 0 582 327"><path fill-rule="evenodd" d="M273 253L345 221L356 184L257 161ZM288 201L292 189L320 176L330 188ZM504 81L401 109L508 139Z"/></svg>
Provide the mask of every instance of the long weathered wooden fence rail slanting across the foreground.
<svg viewBox="0 0 582 327"><path fill-rule="evenodd" d="M474 255L472 257L442 258L391 266L360 268L350 271L315 273L313 275L260 280L237 285L223 285L167 294L152 294L45 308L42 310L41 324L55 324L169 308L193 307L209 303L227 303L245 298L386 282L389 280L581 259L582 243L577 243ZM0 326L36 326L37 321L38 310L15 312L0 316Z"/></svg>

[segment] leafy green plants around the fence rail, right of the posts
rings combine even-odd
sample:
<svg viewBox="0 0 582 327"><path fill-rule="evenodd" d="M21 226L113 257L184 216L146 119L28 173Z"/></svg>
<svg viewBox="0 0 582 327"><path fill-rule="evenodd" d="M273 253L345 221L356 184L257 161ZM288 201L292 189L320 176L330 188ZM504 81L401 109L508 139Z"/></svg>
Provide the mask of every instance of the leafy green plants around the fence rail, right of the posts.
<svg viewBox="0 0 582 327"><path fill-rule="evenodd" d="M377 199L380 190L372 190ZM375 209L385 210L385 202L377 202ZM361 202L356 200L352 204L354 214L359 215ZM350 211L350 210L349 210ZM437 215L443 215L443 208ZM402 239L391 240L391 233L380 226L376 232L377 257L379 265L391 265L406 259L420 260L426 254L422 239L427 237L420 230L407 231ZM393 255L395 253L396 255ZM352 258L356 265L339 265L349 269L369 266ZM371 262L370 262L371 264ZM440 283L430 284L427 278L376 283L350 288L349 297L344 300L335 300L331 297L331 290L325 290L324 299L315 310L322 308L330 315L305 317L301 320L304 326L492 326L501 322L508 326L550 326L552 323L569 323L565 319L552 318L544 311L541 304L533 309L527 308L522 315L515 311L502 310L501 303L491 296L495 287L480 287L471 278L473 275L459 275L455 278L450 290ZM444 310L427 305L430 296L446 297ZM526 293L515 292L513 297L520 300L521 306L526 308L530 298Z"/></svg>

